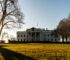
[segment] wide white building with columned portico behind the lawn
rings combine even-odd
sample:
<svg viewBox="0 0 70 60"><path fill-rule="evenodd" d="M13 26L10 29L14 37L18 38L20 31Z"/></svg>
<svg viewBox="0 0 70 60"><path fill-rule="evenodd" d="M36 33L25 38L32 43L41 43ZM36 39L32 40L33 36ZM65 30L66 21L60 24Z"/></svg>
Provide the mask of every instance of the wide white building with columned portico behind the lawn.
<svg viewBox="0 0 70 60"><path fill-rule="evenodd" d="M30 28L26 31L17 32L17 40L24 42L60 42L60 37L51 34L52 30L45 30L40 28Z"/></svg>

